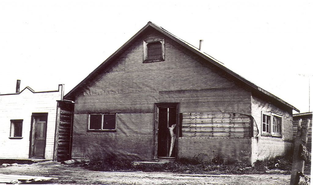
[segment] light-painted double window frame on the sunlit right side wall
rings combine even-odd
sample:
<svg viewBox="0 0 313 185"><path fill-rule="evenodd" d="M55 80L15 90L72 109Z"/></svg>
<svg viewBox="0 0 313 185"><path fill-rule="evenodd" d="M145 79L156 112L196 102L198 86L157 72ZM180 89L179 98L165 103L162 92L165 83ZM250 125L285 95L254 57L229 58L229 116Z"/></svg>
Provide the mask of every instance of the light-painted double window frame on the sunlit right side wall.
<svg viewBox="0 0 313 185"><path fill-rule="evenodd" d="M269 132L263 131L263 115L270 116L270 122L269 122ZM279 132L273 132L273 126L274 126L274 117L280 119L280 123L278 125ZM280 114L277 114L275 112L263 112L261 111L261 136L275 136L275 137L282 137L282 125L283 125L283 116ZM266 130L266 129L265 129Z"/></svg>

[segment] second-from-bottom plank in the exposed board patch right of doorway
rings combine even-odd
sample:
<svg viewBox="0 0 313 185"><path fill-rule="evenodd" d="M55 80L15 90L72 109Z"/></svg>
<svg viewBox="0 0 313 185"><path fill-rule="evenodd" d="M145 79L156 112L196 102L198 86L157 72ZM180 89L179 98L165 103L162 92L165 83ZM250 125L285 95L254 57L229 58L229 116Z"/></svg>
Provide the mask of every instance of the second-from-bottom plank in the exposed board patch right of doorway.
<svg viewBox="0 0 313 185"><path fill-rule="evenodd" d="M182 128L182 132L250 132L250 128L237 127L237 128Z"/></svg>

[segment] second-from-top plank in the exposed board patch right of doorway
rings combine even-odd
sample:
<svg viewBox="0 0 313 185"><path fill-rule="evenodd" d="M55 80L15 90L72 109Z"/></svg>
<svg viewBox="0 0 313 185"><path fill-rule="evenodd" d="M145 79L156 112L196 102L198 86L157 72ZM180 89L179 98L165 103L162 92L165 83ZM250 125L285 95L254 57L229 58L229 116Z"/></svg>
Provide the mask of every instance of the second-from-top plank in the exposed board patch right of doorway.
<svg viewBox="0 0 313 185"><path fill-rule="evenodd" d="M182 123L251 123L250 118L191 118L182 119Z"/></svg>

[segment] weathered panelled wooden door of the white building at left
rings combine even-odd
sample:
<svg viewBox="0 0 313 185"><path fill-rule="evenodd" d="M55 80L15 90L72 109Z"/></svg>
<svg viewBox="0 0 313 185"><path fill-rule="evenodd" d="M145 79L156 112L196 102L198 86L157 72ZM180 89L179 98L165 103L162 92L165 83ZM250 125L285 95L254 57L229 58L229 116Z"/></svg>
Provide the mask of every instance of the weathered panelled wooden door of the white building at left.
<svg viewBox="0 0 313 185"><path fill-rule="evenodd" d="M31 158L44 159L47 135L47 117L33 116Z"/></svg>

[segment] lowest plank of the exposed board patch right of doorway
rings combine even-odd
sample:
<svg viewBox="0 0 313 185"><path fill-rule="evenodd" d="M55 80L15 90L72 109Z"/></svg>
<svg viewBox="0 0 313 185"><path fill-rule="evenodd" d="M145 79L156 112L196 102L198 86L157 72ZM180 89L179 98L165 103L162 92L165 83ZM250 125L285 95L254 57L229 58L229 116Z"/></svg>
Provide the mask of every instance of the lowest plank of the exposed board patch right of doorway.
<svg viewBox="0 0 313 185"><path fill-rule="evenodd" d="M250 132L184 132L183 137L250 137Z"/></svg>

